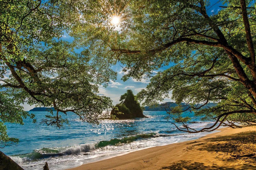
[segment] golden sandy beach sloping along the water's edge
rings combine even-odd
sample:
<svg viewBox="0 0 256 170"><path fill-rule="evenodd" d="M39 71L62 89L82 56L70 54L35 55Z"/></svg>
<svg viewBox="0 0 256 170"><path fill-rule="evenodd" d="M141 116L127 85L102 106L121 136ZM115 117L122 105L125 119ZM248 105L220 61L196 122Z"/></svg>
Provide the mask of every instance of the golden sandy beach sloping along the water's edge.
<svg viewBox="0 0 256 170"><path fill-rule="evenodd" d="M196 140L152 147L72 170L256 169L256 125L222 128Z"/></svg>

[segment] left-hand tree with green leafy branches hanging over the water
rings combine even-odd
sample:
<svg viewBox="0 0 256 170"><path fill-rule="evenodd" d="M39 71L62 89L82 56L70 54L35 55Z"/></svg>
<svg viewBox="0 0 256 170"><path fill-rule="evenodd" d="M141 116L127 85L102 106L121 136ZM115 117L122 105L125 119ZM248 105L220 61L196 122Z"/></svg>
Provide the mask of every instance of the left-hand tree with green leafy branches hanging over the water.
<svg viewBox="0 0 256 170"><path fill-rule="evenodd" d="M106 86L116 77L112 61L88 49L77 53L78 44L61 40L81 21L87 3L1 0L0 147L18 141L8 137L5 122L23 124L23 118L34 117L23 111L21 103L53 106L57 113L50 112L44 122L59 128L68 122L61 114L73 112L82 120L99 123L98 115L112 107L110 98L97 95L99 84ZM10 78L4 76L6 72Z"/></svg>

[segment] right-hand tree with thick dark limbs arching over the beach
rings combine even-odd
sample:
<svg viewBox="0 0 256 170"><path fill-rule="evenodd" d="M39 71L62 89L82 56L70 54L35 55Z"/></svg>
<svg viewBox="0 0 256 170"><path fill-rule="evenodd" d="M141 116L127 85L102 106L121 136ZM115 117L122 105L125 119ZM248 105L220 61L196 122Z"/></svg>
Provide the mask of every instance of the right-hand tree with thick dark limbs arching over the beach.
<svg viewBox="0 0 256 170"><path fill-rule="evenodd" d="M211 15L209 1L203 0L123 3L125 8L112 8L122 30L101 28L90 37L105 43L104 51L115 52L126 65L123 80L151 77L153 70L165 66L138 94L145 105L172 91L172 99L190 104L196 116L216 121L197 131L187 126L189 118L181 116L182 109L172 108L168 113L184 126L180 130L190 133L255 121L255 1L223 1L225 7ZM197 111L210 101L218 104Z"/></svg>

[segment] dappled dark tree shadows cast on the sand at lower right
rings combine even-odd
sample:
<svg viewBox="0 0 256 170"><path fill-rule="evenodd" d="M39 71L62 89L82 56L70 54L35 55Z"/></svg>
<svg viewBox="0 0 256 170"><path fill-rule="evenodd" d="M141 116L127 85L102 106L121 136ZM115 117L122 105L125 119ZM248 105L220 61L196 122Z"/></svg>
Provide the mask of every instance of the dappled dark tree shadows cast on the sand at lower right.
<svg viewBox="0 0 256 170"><path fill-rule="evenodd" d="M229 165L239 162L239 169L256 170L256 131L217 136L214 138L198 140L187 144L190 145L187 147L187 150L196 148L199 151L207 151L209 154L215 153L214 157L217 154L216 159L225 161ZM161 169L236 170L236 168L223 167L217 164L206 166L200 162L185 160L180 160L177 163L173 163L167 167L162 167Z"/></svg>

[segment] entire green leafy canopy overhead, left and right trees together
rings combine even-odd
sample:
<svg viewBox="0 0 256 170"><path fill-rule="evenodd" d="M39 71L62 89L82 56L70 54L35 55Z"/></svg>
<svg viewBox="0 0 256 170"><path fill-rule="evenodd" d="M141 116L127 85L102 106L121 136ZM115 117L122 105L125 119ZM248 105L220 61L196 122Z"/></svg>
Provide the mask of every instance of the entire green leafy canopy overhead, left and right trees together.
<svg viewBox="0 0 256 170"><path fill-rule="evenodd" d="M170 91L173 100L194 111L218 103L195 112L216 120L200 131L187 126L182 109L171 109L187 132L254 121L255 1L222 2L225 7L210 14L211 4L203 0L2 0L0 97L12 106L17 121L0 110L5 115L1 141L8 139L3 123L33 117L19 106L24 102L53 106L57 113L46 117L48 125L61 127L67 120L60 113L68 111L98 123L98 114L112 107L110 98L97 95L98 85L116 78L111 66L117 61L128 72L124 81L151 78L137 95L145 105L163 100ZM111 23L113 17L120 18L119 24ZM61 40L64 33L74 40ZM151 76L162 67L164 71ZM8 71L10 78L5 79Z"/></svg>

